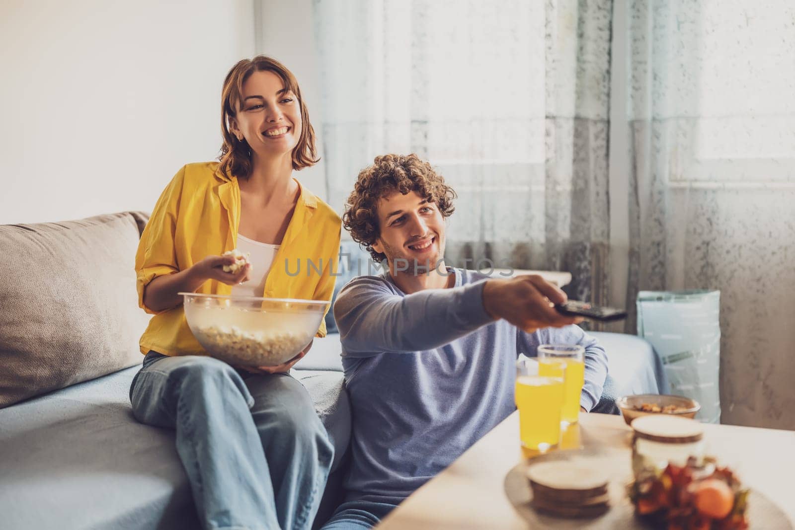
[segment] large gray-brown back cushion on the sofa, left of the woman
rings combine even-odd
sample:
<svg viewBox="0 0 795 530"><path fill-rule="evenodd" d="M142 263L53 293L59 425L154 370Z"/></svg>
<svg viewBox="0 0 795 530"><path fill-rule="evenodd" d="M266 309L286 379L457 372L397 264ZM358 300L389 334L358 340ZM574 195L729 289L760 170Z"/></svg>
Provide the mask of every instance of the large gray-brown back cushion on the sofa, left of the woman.
<svg viewBox="0 0 795 530"><path fill-rule="evenodd" d="M0 408L141 362L141 220L0 226Z"/></svg>

